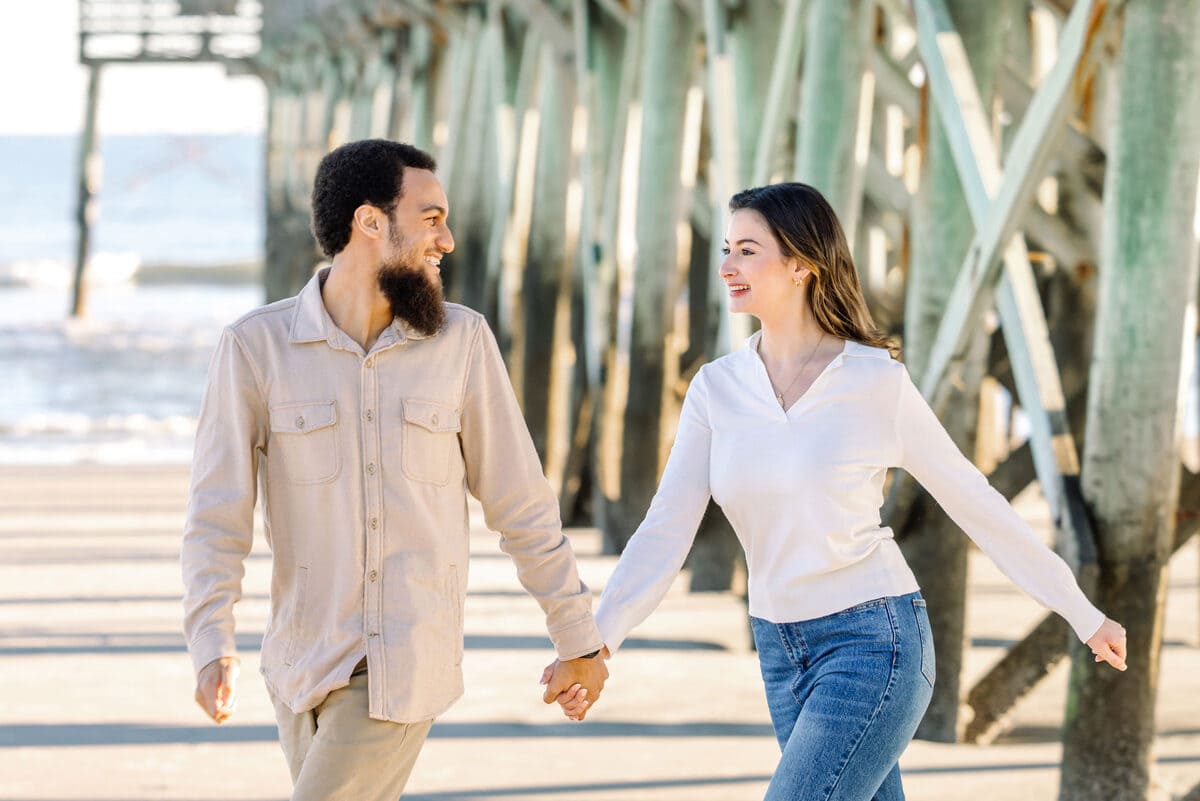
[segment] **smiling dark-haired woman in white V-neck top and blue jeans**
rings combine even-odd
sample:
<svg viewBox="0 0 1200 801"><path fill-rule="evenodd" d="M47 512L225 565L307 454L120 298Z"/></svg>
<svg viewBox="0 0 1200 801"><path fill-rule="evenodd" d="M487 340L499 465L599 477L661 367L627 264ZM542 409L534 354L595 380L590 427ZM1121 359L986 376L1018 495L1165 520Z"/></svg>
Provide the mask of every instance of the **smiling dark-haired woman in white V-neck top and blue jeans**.
<svg viewBox="0 0 1200 801"><path fill-rule="evenodd" d="M750 615L782 758L767 799L893 801L934 685L925 602L880 522L907 470L1008 577L1124 669L1124 630L1093 607L955 447L863 301L833 209L812 187L748 189L721 278L762 330L706 365L646 519L605 586L607 654L660 603L712 495L742 541ZM559 697L582 719L577 687Z"/></svg>

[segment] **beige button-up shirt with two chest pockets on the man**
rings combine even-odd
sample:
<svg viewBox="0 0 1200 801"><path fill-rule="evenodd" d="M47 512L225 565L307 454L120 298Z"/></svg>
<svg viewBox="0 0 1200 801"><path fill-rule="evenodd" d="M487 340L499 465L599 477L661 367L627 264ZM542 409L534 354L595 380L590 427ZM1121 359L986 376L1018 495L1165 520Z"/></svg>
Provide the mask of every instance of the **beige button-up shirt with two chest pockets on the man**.
<svg viewBox="0 0 1200 801"><path fill-rule="evenodd" d="M194 669L236 652L257 492L274 559L262 671L294 711L364 656L373 718L432 718L462 694L467 492L546 613L558 656L602 644L499 349L448 303L370 353L334 325L323 273L223 332L209 371L182 541Z"/></svg>

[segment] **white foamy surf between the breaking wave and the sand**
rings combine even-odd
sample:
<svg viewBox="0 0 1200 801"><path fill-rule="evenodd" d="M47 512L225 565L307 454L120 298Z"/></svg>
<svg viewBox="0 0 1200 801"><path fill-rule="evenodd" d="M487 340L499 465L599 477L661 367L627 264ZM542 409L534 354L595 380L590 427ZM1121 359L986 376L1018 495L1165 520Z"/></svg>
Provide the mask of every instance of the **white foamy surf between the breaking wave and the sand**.
<svg viewBox="0 0 1200 801"><path fill-rule="evenodd" d="M0 464L185 463L223 325L254 285L0 288Z"/></svg>

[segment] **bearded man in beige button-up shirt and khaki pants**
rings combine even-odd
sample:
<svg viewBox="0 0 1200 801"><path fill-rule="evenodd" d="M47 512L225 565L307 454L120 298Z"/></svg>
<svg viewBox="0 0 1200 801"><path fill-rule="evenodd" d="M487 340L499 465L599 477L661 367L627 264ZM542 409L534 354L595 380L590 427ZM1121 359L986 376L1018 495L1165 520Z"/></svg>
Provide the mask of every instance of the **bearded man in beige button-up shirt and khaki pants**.
<svg viewBox="0 0 1200 801"><path fill-rule="evenodd" d="M433 159L367 140L322 161L313 233L332 266L223 332L182 543L196 700L234 710L233 607L258 487L272 550L262 673L294 800L395 801L462 693L467 490L546 613L544 700L595 700L602 642L499 350L442 300L454 249Z"/></svg>

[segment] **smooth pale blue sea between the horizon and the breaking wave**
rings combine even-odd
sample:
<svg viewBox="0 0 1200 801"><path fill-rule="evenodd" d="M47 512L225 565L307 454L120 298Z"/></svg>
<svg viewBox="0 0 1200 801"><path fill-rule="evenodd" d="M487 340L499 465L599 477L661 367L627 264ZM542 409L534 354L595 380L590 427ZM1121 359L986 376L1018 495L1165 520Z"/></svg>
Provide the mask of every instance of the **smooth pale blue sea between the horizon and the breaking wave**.
<svg viewBox="0 0 1200 801"><path fill-rule="evenodd" d="M262 259L262 137L107 137L101 163L91 252L102 261ZM0 279L74 259L77 169L76 137L0 137Z"/></svg>

